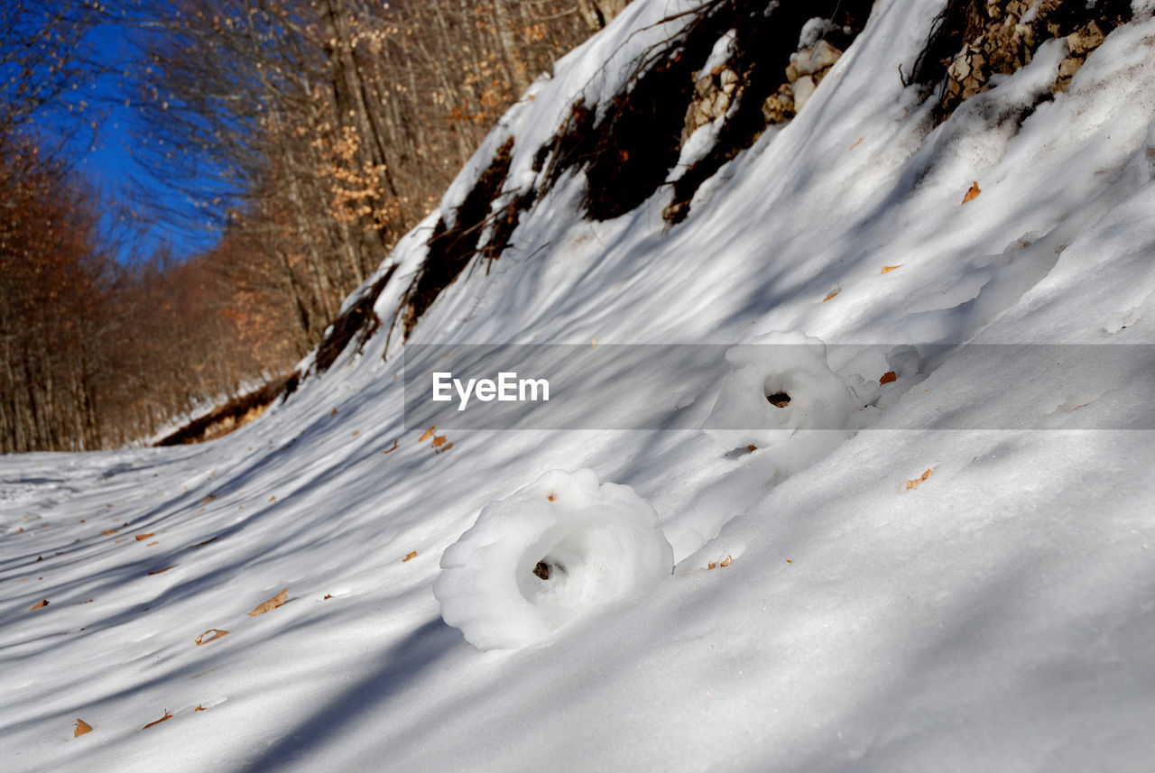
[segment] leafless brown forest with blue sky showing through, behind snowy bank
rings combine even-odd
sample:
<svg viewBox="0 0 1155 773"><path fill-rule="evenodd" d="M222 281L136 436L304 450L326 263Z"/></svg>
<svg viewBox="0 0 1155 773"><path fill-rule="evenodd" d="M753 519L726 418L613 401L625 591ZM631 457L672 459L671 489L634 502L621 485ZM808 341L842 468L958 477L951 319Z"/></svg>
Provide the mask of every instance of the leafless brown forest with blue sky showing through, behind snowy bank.
<svg viewBox="0 0 1155 773"><path fill-rule="evenodd" d="M147 442L283 378L497 119L625 5L5 3L0 452ZM113 106L135 163L110 192L77 162Z"/></svg>

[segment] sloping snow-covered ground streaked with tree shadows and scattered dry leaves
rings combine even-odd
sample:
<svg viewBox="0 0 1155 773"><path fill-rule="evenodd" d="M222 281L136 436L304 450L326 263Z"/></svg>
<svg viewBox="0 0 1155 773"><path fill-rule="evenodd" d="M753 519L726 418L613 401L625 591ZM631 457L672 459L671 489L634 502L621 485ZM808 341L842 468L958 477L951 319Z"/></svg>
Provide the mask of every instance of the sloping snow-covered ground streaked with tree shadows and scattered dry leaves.
<svg viewBox="0 0 1155 773"><path fill-rule="evenodd" d="M654 22L688 5L639 0L538 81L446 211L509 136L511 185L532 185L579 92L617 91L669 31ZM696 429L405 427L400 331L382 359L382 329L222 440L0 457L2 767L1152 770L1155 21L1137 2L1021 126L1006 117L1048 88L1065 43L927 133L896 68L938 6L875 6L805 110L669 231L666 189L591 223L581 175L562 178L410 343L798 333L830 346L848 389L882 375L856 346L1128 344L1132 367L1068 381L981 347L900 363L875 385L897 397L795 470ZM382 320L434 218L398 246ZM703 422L725 367L692 396ZM545 488L594 502L587 473L539 480L579 468L628 486L639 524L648 502L672 573L651 581L653 556L618 550L612 530L567 542L565 561L620 571L628 592L572 592L547 631L513 637L524 646L472 646L434 596L442 553L502 501L447 566L508 560L511 583L538 581L501 542L537 538L499 516ZM472 592L465 618L516 606ZM74 737L77 719L91 731Z"/></svg>

